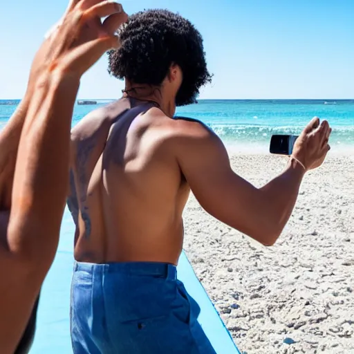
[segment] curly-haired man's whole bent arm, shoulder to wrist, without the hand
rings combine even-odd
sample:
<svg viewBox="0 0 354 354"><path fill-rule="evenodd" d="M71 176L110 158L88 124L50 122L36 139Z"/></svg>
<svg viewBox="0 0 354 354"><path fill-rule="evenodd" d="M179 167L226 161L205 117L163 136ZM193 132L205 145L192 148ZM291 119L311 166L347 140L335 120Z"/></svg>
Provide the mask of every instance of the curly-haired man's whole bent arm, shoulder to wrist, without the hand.
<svg viewBox="0 0 354 354"><path fill-rule="evenodd" d="M221 140L201 124L178 145L178 162L201 206L215 218L272 245L292 213L305 170L296 160L261 188L230 167ZM326 150L328 151L328 150Z"/></svg>

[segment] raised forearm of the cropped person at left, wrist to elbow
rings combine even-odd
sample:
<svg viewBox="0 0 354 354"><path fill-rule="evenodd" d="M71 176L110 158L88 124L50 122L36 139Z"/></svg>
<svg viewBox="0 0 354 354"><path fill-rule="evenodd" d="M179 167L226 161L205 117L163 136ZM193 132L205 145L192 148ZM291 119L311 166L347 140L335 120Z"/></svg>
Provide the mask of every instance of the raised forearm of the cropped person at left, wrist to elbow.
<svg viewBox="0 0 354 354"><path fill-rule="evenodd" d="M47 75L37 85L17 155L10 251L53 261L68 189L71 118L79 80ZM39 197L40 196L40 197Z"/></svg>

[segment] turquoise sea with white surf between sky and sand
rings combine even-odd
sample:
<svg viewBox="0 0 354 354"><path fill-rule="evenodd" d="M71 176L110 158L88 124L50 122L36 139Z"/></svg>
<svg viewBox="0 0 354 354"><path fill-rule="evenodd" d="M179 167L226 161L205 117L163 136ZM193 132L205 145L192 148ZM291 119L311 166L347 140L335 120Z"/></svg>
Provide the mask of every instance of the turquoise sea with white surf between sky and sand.
<svg viewBox="0 0 354 354"><path fill-rule="evenodd" d="M0 129L18 102L0 100ZM108 102L76 105L73 125ZM346 153L354 145L354 100L200 100L178 107L176 115L205 122L229 149L240 152L267 153L272 134L299 134L315 115L333 127L333 151Z"/></svg>

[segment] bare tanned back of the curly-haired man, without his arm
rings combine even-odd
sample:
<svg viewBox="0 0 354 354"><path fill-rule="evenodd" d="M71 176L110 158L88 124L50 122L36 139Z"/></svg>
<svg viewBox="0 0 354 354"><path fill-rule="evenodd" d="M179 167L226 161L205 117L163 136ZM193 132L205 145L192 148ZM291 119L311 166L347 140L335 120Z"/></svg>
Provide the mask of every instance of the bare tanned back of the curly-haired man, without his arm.
<svg viewBox="0 0 354 354"><path fill-rule="evenodd" d="M77 261L177 264L190 189L173 146L194 124L127 97L77 124L68 198Z"/></svg>

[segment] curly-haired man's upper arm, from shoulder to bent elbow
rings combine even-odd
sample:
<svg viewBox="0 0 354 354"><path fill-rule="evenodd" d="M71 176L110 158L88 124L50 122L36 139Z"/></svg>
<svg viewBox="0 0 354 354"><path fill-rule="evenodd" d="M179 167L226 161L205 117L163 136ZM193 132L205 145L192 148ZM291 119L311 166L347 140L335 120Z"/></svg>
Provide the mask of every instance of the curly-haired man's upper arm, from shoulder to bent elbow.
<svg viewBox="0 0 354 354"><path fill-rule="evenodd" d="M192 123L178 145L177 158L201 206L215 218L266 243L266 202L260 189L232 171L220 138L201 123Z"/></svg>

